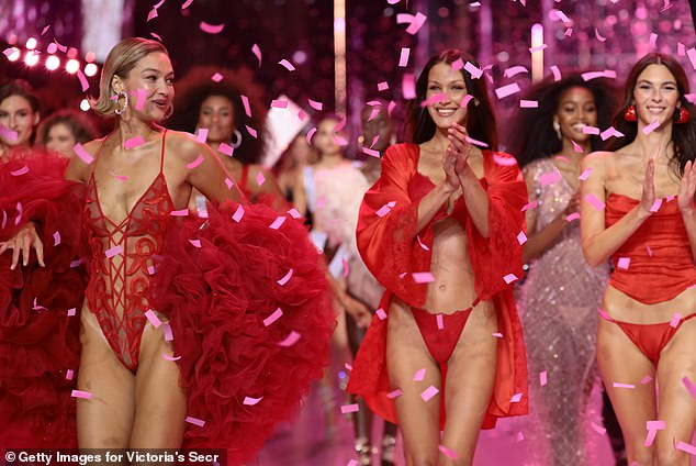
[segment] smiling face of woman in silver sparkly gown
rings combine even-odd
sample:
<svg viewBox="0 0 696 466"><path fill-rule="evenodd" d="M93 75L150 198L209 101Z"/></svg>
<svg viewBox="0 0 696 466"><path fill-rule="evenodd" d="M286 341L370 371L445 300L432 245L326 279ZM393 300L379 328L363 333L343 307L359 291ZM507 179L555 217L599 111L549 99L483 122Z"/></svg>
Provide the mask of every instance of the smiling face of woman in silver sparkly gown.
<svg viewBox="0 0 696 466"><path fill-rule="evenodd" d="M576 86L564 90L553 120L561 126L562 137L576 143L587 141L590 134L583 133L583 127L597 125L597 107L590 89Z"/></svg>

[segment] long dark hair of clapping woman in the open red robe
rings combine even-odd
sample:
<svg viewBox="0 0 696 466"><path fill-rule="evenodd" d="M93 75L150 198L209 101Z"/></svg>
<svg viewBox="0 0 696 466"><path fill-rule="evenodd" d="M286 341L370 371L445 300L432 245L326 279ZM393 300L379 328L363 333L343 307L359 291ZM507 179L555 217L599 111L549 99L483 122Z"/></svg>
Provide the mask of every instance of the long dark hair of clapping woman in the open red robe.
<svg viewBox="0 0 696 466"><path fill-rule="evenodd" d="M428 75L435 65L439 63L451 65L460 58L464 64L470 62L479 67L470 55L456 48L449 48L430 57L425 68L423 68L420 76L416 80L416 98L408 102L406 111L406 140L420 144L429 141L435 135L435 122L430 118L428 109L420 106L428 90ZM483 141L489 144L492 151L496 151L495 114L489 99L486 79L483 76L479 79L473 79L470 73L463 70L460 70L460 73L464 78L467 92L473 97L467 104L467 132L474 140Z"/></svg>

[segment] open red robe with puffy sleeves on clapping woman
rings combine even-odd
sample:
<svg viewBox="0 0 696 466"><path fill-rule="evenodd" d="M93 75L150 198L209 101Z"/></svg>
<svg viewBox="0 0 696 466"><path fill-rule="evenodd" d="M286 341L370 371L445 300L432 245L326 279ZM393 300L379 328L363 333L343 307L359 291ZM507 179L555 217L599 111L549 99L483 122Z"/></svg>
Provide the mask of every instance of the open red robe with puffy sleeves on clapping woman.
<svg viewBox="0 0 696 466"><path fill-rule="evenodd" d="M416 231L419 201L433 189L429 180L417 173L418 157L415 144L390 147L382 159L382 175L366 193L360 208L358 248L370 271L386 288L380 302L386 313L394 296L412 307L425 304L427 284L417 284L412 274L430 270L433 223L440 215L420 232ZM492 429L497 418L526 414L528 410L523 331L512 285L504 278L507 276L509 280L509 274L521 276L521 245L517 236L525 228L521 209L527 202L527 189L509 155L485 151L483 157L481 184L489 196L491 237L479 233L463 197L450 215L465 226L474 290L482 300L493 301L498 332L503 334L493 396L483 422L483 429ZM429 187L415 186L424 182ZM416 234L427 249L418 243ZM388 398L395 388L390 386L386 369L386 319L375 315L356 357L347 390L361 396L375 413L396 423L394 400ZM440 408L444 413L444 406ZM440 425L445 425L444 415Z"/></svg>

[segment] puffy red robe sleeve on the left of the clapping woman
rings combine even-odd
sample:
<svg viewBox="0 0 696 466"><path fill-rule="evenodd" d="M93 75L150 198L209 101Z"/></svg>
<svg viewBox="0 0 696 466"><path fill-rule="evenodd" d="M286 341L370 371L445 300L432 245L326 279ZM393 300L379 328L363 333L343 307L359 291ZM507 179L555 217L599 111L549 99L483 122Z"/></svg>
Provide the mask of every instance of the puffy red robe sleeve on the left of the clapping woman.
<svg viewBox="0 0 696 466"><path fill-rule="evenodd" d="M427 271L429 262L414 248L418 202L408 196L415 174L417 148L407 144L390 147L382 158L382 175L368 190L358 219L358 249L372 275L404 302L422 307L426 285L412 274Z"/></svg>

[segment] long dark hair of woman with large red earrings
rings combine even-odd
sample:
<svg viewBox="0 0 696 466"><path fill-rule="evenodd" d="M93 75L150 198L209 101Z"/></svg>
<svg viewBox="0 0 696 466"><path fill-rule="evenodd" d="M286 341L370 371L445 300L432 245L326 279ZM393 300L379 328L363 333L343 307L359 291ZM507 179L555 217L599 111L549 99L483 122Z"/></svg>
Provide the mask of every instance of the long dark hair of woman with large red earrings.
<svg viewBox="0 0 696 466"><path fill-rule="evenodd" d="M614 115L614 127L621 133L626 134L626 137L614 140L609 144L609 151L618 151L619 148L627 146L638 134L638 122L628 122L624 118L626 109L633 104L633 90L638 82L638 76L650 65L664 65L674 79L676 80L676 88L680 92L680 102L682 107L688 110L691 118L686 123L672 124L672 142L674 143L674 156L670 159L670 166L674 169L674 173L680 177L684 174L684 166L687 160L694 162L696 158L696 113L694 113L694 106L686 100L686 95L689 92L688 79L684 68L677 60L669 55L659 53L650 53L643 56L633 65L631 71L626 78L626 86L624 87L624 106L619 109L618 113ZM675 112L677 113L677 112Z"/></svg>

